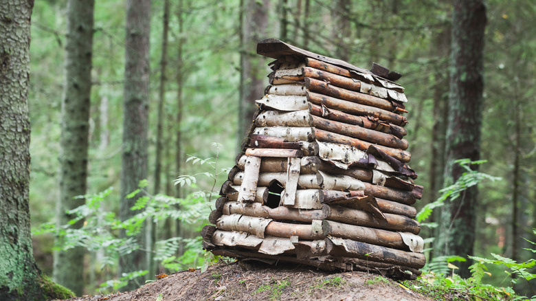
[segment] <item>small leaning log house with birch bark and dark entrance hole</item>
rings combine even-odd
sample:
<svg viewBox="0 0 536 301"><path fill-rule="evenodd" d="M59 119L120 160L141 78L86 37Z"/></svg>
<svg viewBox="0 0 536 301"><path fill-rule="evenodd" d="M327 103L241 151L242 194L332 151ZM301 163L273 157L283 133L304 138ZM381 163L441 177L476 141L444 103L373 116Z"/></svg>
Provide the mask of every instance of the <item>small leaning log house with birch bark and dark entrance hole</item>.
<svg viewBox="0 0 536 301"><path fill-rule="evenodd" d="M203 228L216 255L415 278L423 187L407 165L400 74L366 70L276 39L243 153Z"/></svg>

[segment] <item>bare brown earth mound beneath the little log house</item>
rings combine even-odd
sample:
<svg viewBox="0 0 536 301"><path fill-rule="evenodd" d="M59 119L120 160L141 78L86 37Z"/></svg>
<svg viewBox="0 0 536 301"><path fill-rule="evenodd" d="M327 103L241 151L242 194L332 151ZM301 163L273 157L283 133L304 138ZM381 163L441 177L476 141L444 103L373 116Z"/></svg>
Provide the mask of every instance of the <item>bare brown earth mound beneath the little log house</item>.
<svg viewBox="0 0 536 301"><path fill-rule="evenodd" d="M433 293L433 292L431 292ZM150 282L135 291L84 296L71 301L171 300L469 300L443 292L434 299L399 282L359 271L328 272L311 267L258 262L212 265L201 274L190 269Z"/></svg>

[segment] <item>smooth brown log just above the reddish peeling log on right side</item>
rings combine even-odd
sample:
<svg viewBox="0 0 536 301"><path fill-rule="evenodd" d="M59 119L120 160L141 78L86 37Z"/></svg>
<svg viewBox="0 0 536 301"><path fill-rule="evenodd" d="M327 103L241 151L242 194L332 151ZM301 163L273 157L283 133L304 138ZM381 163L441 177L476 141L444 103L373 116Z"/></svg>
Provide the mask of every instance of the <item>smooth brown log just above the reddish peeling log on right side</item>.
<svg viewBox="0 0 536 301"><path fill-rule="evenodd" d="M325 96L319 93L314 93L310 91L307 92L307 100L309 100L313 104L323 104L330 109L337 109L339 111L344 111L355 115L375 116L380 120L391 122L399 126L404 126L405 124L407 124L407 118L397 113L392 113L390 111L377 107L366 106L364 104L357 104L348 100Z"/></svg>

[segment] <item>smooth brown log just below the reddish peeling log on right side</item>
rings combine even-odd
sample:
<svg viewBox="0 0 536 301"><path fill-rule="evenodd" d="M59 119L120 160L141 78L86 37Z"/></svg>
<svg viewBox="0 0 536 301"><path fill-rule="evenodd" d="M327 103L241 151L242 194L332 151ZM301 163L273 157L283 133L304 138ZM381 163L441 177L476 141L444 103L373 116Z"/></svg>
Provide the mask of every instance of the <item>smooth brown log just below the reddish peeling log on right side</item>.
<svg viewBox="0 0 536 301"><path fill-rule="evenodd" d="M363 126L344 124L333 120L327 120L313 115L313 126L317 129L324 131L330 131L332 133L339 133L349 137L359 138L367 142L377 143L382 146L388 146L391 148L400 148L405 150L407 148L407 140L399 139L394 135L388 133L382 133L380 131L374 131L365 129ZM368 148L368 147L367 147Z"/></svg>

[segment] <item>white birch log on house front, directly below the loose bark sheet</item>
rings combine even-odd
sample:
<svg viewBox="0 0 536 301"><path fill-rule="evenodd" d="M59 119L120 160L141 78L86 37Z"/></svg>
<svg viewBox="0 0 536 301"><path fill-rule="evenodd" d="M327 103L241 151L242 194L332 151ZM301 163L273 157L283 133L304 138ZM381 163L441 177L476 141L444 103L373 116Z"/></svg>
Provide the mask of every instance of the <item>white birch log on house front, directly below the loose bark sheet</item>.
<svg viewBox="0 0 536 301"><path fill-rule="evenodd" d="M282 111L263 111L256 120L256 126L311 126L313 118L309 110L282 112Z"/></svg>

